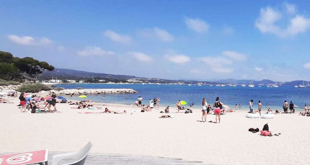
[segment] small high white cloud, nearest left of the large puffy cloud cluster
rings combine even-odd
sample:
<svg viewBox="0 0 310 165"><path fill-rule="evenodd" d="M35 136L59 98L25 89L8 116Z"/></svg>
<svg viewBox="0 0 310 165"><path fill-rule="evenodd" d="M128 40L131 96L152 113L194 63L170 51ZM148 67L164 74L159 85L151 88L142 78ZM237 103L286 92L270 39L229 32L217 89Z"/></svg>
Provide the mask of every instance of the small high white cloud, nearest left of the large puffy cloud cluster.
<svg viewBox="0 0 310 165"><path fill-rule="evenodd" d="M193 19L185 17L185 23L189 29L192 29L197 33L205 33L208 32L209 29L209 25L199 18Z"/></svg>

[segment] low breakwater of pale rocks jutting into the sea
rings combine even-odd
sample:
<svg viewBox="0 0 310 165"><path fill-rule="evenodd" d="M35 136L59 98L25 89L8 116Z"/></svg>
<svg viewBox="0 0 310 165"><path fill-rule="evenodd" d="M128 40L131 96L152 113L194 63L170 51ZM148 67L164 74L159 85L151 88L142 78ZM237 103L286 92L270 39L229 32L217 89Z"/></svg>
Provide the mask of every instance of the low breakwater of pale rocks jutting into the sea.
<svg viewBox="0 0 310 165"><path fill-rule="evenodd" d="M137 93L133 89L64 89L60 91L50 90L41 91L40 93L55 92L56 95L88 95L88 94L119 94L119 93Z"/></svg>

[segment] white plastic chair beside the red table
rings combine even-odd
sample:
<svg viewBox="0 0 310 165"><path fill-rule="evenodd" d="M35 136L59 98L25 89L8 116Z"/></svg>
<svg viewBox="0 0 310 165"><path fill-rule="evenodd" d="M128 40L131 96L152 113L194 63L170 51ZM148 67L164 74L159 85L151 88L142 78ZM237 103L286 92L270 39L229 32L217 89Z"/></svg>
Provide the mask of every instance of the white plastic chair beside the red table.
<svg viewBox="0 0 310 165"><path fill-rule="evenodd" d="M83 165L89 151L91 150L91 147L91 142L88 142L84 148L80 149L77 152L54 155L52 159L52 165L57 165L58 162L63 159L74 159L75 161L61 165Z"/></svg>

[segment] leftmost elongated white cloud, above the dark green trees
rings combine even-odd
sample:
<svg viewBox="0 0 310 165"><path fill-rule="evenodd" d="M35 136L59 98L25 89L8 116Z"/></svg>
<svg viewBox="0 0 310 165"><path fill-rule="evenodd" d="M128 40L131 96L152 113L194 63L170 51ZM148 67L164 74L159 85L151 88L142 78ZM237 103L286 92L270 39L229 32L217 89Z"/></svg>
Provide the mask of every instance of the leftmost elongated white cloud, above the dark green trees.
<svg viewBox="0 0 310 165"><path fill-rule="evenodd" d="M49 45L52 44L53 41L46 38L37 38L34 39L31 36L17 36L17 35L8 35L7 38L11 40L14 43L20 44L20 45Z"/></svg>

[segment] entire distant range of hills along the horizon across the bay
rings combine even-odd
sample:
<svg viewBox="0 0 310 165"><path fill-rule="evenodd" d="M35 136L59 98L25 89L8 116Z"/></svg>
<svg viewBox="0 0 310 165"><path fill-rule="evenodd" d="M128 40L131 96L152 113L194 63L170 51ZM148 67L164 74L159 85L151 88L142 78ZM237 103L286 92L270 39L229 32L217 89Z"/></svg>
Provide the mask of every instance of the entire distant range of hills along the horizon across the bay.
<svg viewBox="0 0 310 165"><path fill-rule="evenodd" d="M130 76L130 75L117 75L117 74L105 74L105 73L94 73L94 72L86 72L86 71L80 71L80 70L73 70L73 69L60 69L55 68L53 71L43 71L43 74L39 76L38 78L43 80L49 80L52 77L57 79L76 79L79 80L88 80L88 82L94 82L94 79L97 81L99 79L104 79L106 81L112 81L112 82L126 82L127 79L136 79L137 83L204 83L204 84L250 84L251 80L236 80L236 79L222 79L218 81L208 82L208 81L197 81L197 80L166 80L166 79L159 79L159 78L141 78L136 76ZM264 79L264 80L252 80L253 85L259 85L259 84L274 84L275 82L272 80ZM95 81L96 82L96 81ZM299 84L305 84L308 85L310 83L309 81L303 80L296 80L291 82L277 82L279 85L299 85Z"/></svg>

